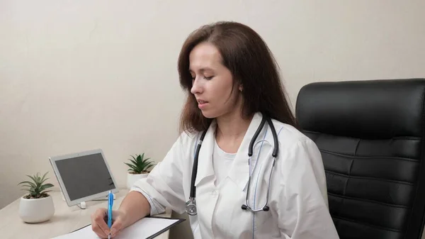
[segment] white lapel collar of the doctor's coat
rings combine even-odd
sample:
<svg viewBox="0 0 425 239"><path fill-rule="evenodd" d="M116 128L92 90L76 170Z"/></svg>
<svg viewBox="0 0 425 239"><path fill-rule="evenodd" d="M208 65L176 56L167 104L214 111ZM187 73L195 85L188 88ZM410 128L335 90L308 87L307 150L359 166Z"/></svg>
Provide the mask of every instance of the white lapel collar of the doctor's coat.
<svg viewBox="0 0 425 239"><path fill-rule="evenodd" d="M242 143L239 146L239 149L237 150L237 154L234 158L234 162L232 163L232 167L229 169L228 177L238 185L241 191L245 189L249 179L249 143L251 142L255 131L261 123L261 118L261 113L254 114L251 123L249 123L248 130L246 130ZM205 134L205 138L203 140L202 147L200 148L199 152L198 173L196 174L195 186L198 185L198 183L205 177L214 175L214 168L212 167L212 150L214 149L216 128L217 123L215 121L212 121L210 127L207 130L207 133ZM263 134L262 131L263 130L261 130L260 135Z"/></svg>

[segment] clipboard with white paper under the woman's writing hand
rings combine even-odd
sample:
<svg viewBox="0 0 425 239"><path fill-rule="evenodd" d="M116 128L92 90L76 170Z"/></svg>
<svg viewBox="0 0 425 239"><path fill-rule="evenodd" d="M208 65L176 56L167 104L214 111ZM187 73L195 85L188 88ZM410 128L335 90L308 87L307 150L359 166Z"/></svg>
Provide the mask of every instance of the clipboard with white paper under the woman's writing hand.
<svg viewBox="0 0 425 239"><path fill-rule="evenodd" d="M169 230L170 228L182 223L183 221L186 221L186 219L165 218L162 216L147 216L145 218L140 219L139 221L136 221L132 225L128 226L128 228L124 228L120 233L120 235L122 235L122 237L120 238L142 239L142 236L145 236L143 238L146 238L146 239L156 238L158 235L161 235L162 233L166 232L166 230ZM158 224L163 224L163 225L157 226ZM149 232L149 235L140 235L140 231L146 230L144 228L140 228L141 226L145 228L149 228L150 230L153 230L152 229L154 227L153 225L156 225L157 228L160 228L160 229L154 230L154 233ZM82 228L79 228L77 230L74 230L65 235L60 235L58 237L51 238L51 239L98 238L96 233L93 232L90 226L91 224L84 226Z"/></svg>

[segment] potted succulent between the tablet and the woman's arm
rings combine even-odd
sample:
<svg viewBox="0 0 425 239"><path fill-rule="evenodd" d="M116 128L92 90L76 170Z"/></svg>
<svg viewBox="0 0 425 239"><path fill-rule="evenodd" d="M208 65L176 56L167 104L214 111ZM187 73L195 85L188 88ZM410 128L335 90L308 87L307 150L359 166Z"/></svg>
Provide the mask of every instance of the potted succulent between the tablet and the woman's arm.
<svg viewBox="0 0 425 239"><path fill-rule="evenodd" d="M142 155L130 155L132 159L130 162L125 162L125 165L129 167L127 173L127 188L131 189L132 185L138 180L147 177L150 169L154 166L154 162L150 160L150 157L145 158L145 153Z"/></svg>

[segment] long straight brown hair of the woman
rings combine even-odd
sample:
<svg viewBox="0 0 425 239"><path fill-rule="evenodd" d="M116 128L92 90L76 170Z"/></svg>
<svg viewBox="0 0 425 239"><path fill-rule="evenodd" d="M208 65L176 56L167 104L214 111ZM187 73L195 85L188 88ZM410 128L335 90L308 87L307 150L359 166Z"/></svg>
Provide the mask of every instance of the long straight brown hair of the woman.
<svg viewBox="0 0 425 239"><path fill-rule="evenodd" d="M296 127L295 117L285 97L278 64L261 36L242 23L220 21L201 26L183 43L178 61L181 87L187 99L180 118L181 131L206 130L212 119L205 118L191 94L189 54L199 43L208 42L219 50L222 65L232 72L234 82L242 84L242 116L261 112Z"/></svg>

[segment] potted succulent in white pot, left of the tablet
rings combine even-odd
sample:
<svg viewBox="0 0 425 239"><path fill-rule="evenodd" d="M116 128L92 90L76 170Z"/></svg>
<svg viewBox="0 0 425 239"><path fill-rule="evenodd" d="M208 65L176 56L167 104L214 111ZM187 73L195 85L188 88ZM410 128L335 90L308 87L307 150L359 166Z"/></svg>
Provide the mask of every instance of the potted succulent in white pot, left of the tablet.
<svg viewBox="0 0 425 239"><path fill-rule="evenodd" d="M23 190L28 191L28 194L21 197L19 203L19 216L26 223L41 223L49 220L55 213L52 196L47 194L51 190L46 190L53 187L53 184L45 184L47 172L40 177L37 173L30 177L30 181L20 182Z"/></svg>

